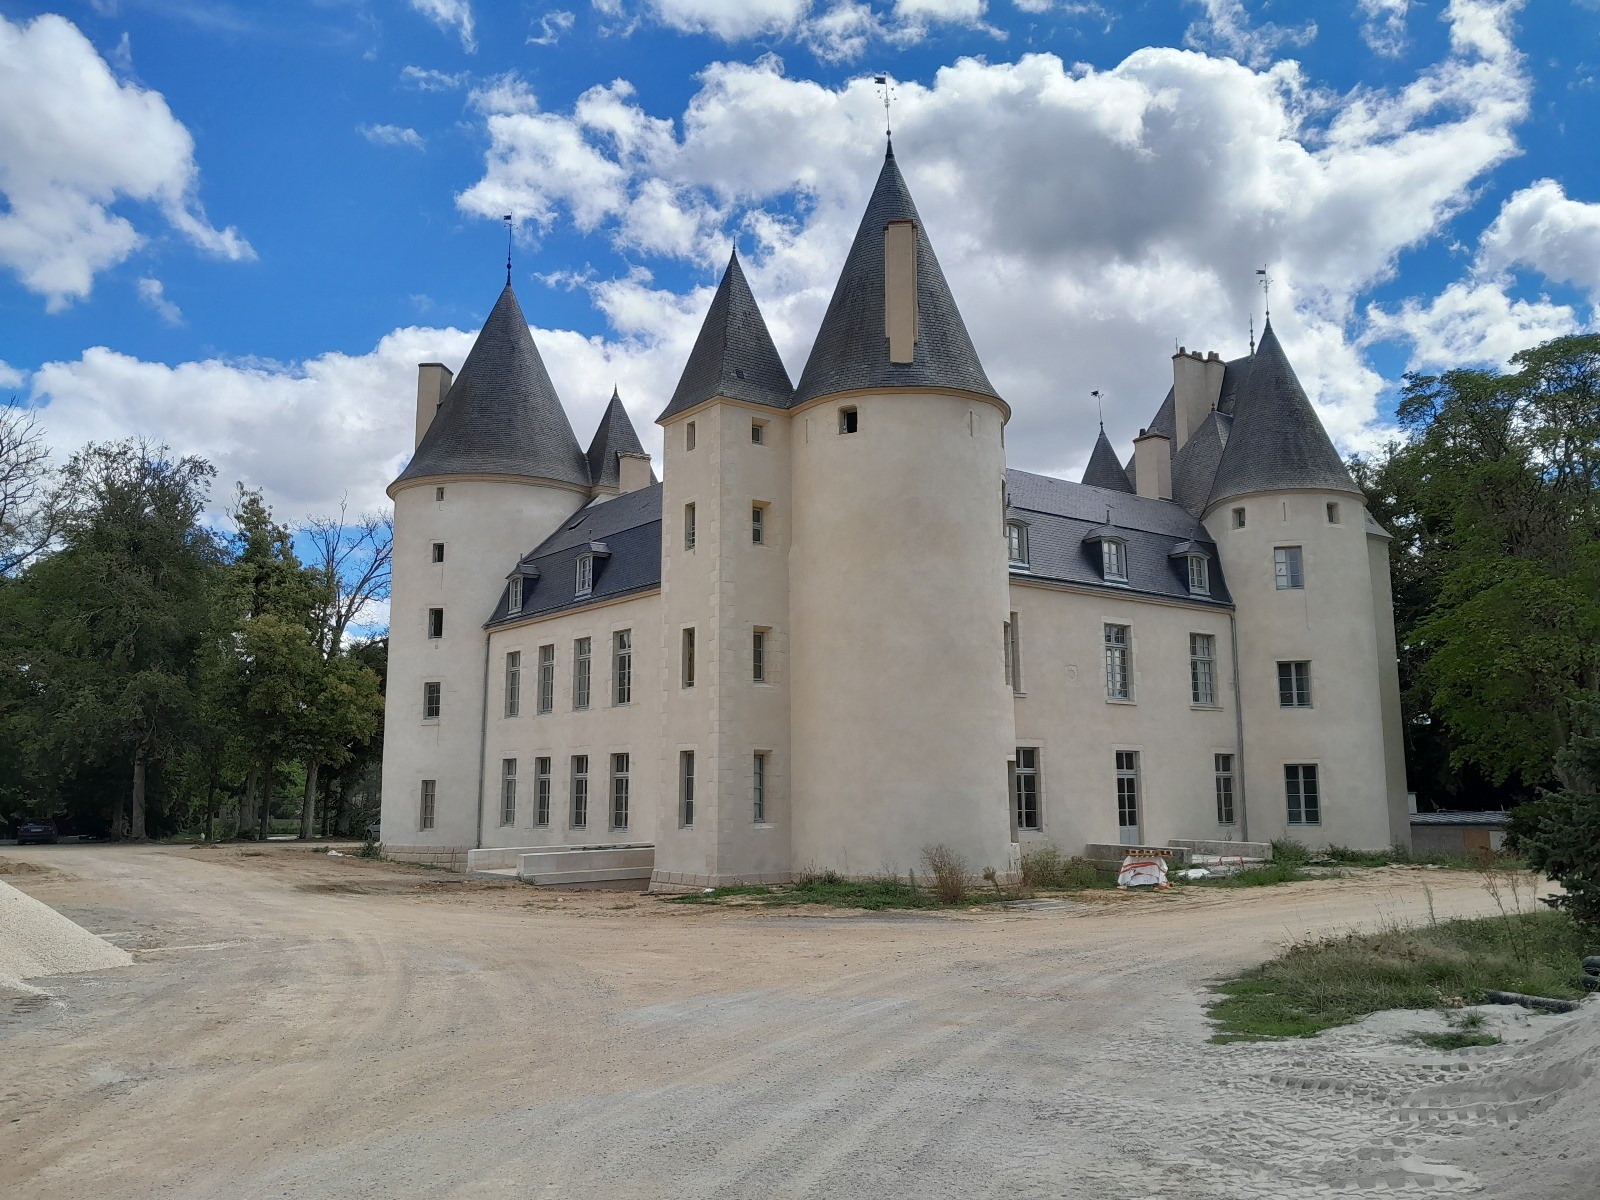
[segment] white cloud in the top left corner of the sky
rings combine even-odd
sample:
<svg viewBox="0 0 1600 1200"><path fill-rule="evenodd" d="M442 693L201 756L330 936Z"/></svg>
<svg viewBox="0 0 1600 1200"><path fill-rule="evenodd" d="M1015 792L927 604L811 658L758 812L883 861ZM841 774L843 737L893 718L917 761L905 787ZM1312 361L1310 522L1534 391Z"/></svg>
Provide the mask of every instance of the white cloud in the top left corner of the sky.
<svg viewBox="0 0 1600 1200"><path fill-rule="evenodd" d="M115 211L122 200L155 205L200 250L254 258L235 229L206 221L198 176L194 139L160 93L120 83L77 26L0 16L0 266L51 312L144 242Z"/></svg>

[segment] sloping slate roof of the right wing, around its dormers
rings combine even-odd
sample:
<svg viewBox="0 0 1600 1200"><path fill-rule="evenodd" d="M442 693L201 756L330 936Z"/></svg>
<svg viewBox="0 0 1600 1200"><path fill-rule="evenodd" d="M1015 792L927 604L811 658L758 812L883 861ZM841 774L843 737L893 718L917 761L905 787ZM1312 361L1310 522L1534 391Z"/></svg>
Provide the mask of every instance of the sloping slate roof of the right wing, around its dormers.
<svg viewBox="0 0 1600 1200"><path fill-rule="evenodd" d="M1195 517L1176 504L1026 470L1006 470L1005 480L1006 517L1027 523L1029 563L1026 568L1013 566L1011 578L1048 579L1218 608L1232 605L1216 542ZM1104 579L1099 544L1085 542L1091 533L1107 531L1126 542L1125 584ZM1210 597L1190 595L1189 565L1171 557L1181 546L1211 557Z"/></svg>

